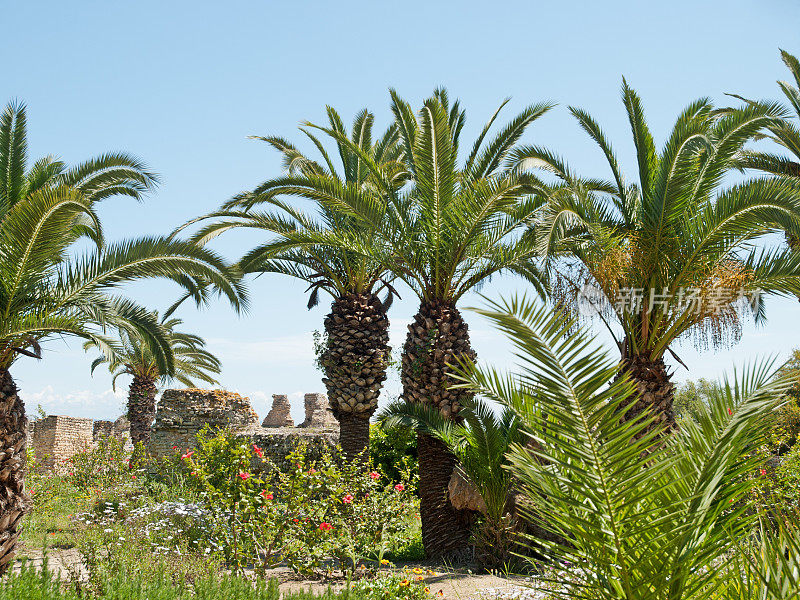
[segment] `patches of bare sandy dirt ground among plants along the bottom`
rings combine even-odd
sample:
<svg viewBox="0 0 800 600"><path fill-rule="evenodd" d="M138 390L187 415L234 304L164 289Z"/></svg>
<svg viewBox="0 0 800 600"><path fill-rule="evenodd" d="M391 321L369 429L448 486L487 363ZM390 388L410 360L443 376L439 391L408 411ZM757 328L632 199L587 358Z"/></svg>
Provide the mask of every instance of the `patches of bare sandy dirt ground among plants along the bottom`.
<svg viewBox="0 0 800 600"><path fill-rule="evenodd" d="M43 556L41 551L26 552L26 558L35 567L41 567ZM488 573L473 573L469 569L442 570L441 567L432 567L429 564L403 565L410 568L422 566L434 570L436 575L425 577L425 584L436 594L442 590L442 597L447 600L540 600L546 595L533 589L535 582L521 576L504 576ZM48 552L48 567L52 571L61 573L63 579L70 576L85 577L86 571L81 562L81 555L76 548L52 549ZM19 563L14 567L20 568ZM344 585L343 582L307 581L298 580L293 573L283 567L272 569L268 576L273 576L281 581L280 588L285 591L311 589L323 592L328 586L334 588Z"/></svg>

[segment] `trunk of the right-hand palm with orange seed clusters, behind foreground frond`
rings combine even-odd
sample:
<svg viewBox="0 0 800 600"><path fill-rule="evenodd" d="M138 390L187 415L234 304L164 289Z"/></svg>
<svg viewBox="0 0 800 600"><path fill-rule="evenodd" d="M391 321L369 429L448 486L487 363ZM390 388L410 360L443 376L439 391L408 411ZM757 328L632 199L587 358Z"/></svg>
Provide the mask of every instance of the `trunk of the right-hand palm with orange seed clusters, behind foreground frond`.
<svg viewBox="0 0 800 600"><path fill-rule="evenodd" d="M673 385L664 359L652 360L644 356L623 359L620 375L627 374L636 384L637 396L625 409L624 420L635 419L650 408L657 415L654 427L669 432L675 429Z"/></svg>

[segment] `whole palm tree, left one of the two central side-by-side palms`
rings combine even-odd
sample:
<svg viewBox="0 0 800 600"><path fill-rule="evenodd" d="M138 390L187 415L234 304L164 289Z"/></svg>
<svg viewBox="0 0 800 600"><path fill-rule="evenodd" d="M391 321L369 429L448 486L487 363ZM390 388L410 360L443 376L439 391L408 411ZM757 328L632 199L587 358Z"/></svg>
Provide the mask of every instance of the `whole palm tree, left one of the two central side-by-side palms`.
<svg viewBox="0 0 800 600"><path fill-rule="evenodd" d="M363 110L356 116L348 137L339 114L331 107L327 113L327 131L336 141L340 170L310 123L300 130L317 148L322 163L306 157L285 139L260 137L283 154L287 174L237 196L223 210L198 219L214 221L194 239L205 243L224 231L242 227L269 234L272 239L241 259L239 267L244 273L279 273L307 282L311 292L309 309L318 303L320 291L331 295L331 312L325 319L327 343L320 357L323 382L340 424L345 456L366 459L369 420L377 409L390 357L386 311L394 290L386 278L385 266L375 258L384 223L354 218L337 210L329 199L344 195L364 203L381 202L381 190L364 157L391 180L393 188L403 184L403 168L397 162L400 150L393 128L373 142L374 118ZM316 214L304 213L282 196L310 200ZM267 205L272 210L253 210L257 205ZM378 294L384 288L388 295L381 301Z"/></svg>

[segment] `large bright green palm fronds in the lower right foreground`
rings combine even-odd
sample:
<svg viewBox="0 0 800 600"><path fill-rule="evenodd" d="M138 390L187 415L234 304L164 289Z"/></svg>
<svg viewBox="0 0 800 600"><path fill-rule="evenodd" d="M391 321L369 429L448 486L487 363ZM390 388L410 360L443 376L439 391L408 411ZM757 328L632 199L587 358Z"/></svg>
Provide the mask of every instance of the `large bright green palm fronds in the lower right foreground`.
<svg viewBox="0 0 800 600"><path fill-rule="evenodd" d="M531 443L512 447L511 468L532 503L527 517L562 540L532 542L556 564L574 565L559 573L569 582L560 595L738 598L741 573L727 559L741 552L756 575L747 597L798 597L796 529L765 542L777 557L752 551L766 518L749 500L757 449L786 389L769 365L723 381L664 437L650 429L655 416L647 412L620 420L635 388L615 379L617 361L574 321L524 298L478 312L507 335L520 372L475 367L467 381L513 408L530 432ZM780 579L770 582L776 564Z"/></svg>

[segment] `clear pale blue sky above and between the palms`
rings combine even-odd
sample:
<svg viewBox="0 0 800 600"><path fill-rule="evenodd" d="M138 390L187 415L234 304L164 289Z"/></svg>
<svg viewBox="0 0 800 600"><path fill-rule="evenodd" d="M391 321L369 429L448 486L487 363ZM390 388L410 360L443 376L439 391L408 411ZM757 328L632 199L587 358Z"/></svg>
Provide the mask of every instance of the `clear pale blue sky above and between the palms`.
<svg viewBox="0 0 800 600"><path fill-rule="evenodd" d="M0 99L27 103L32 156L74 162L125 150L161 175L145 203L120 198L102 207L111 239L168 232L278 174L276 154L247 136L299 141L296 125L322 120L325 104L348 119L369 107L383 125L389 87L416 104L445 85L467 108L469 139L507 96L509 115L553 100L559 108L526 141L565 155L587 175L606 175L565 106L588 109L632 170L619 102L623 75L663 140L677 112L698 96L777 97L775 81L786 76L778 48L800 53L794 0L51 1L4 2L2 15ZM234 258L256 239L234 234L216 247ZM293 394L297 418L300 394L324 389L310 332L321 329L327 300L307 311L304 287L261 277L252 282L247 315L222 304L181 315L223 360L223 385L249 395L262 416L274 393ZM495 280L484 292L523 287ZM153 283L130 291L154 308L177 293ZM415 309L406 290L390 314L395 346ZM764 327L746 327L730 350L677 348L691 370L677 369L676 378L713 377L734 362L785 356L800 345L796 301L770 301L768 317ZM474 315L469 321L481 358L505 366L503 340ZM128 382L120 379L112 394L110 377L90 377L89 362L74 341L49 343L41 362L20 360L14 375L29 412L41 403L51 414L121 414ZM396 377L389 387L397 392Z"/></svg>

